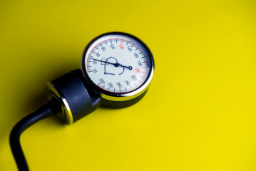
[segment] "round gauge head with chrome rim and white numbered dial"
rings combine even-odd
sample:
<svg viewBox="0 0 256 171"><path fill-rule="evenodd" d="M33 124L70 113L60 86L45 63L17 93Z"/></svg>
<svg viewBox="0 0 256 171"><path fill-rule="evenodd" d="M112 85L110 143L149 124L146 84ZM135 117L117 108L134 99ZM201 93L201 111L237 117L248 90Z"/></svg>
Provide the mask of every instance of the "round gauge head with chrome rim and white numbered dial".
<svg viewBox="0 0 256 171"><path fill-rule="evenodd" d="M154 61L149 48L128 33L106 33L86 46L82 57L86 81L108 102L142 98L153 78Z"/></svg>

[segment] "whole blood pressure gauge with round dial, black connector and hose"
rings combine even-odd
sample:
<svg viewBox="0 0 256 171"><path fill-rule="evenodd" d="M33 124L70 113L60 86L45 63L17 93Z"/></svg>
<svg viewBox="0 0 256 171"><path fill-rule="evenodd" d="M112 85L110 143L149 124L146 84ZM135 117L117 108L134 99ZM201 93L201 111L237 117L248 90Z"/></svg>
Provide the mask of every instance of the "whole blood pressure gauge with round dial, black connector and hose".
<svg viewBox="0 0 256 171"><path fill-rule="evenodd" d="M135 36L112 32L94 38L83 52L82 71L71 71L47 83L48 103L11 130L11 150L19 170L29 170L19 139L30 125L56 113L72 124L100 105L133 105L145 95L153 73L153 56Z"/></svg>

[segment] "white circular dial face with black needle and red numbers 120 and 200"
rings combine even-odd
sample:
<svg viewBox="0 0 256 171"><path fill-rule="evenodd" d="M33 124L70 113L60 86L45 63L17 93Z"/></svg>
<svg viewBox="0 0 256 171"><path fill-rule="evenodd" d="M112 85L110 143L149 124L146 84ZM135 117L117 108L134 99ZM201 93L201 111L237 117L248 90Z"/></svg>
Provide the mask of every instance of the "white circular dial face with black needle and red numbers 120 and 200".
<svg viewBox="0 0 256 171"><path fill-rule="evenodd" d="M91 43L83 58L83 70L91 81L111 93L128 93L139 88L150 73L148 52L129 36L102 36Z"/></svg>

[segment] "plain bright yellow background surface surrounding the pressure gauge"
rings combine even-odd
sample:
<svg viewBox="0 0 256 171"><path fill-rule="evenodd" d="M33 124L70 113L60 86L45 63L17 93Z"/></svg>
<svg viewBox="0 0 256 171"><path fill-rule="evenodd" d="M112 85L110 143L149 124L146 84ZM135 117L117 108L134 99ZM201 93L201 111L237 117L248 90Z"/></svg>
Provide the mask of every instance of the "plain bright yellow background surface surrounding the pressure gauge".
<svg viewBox="0 0 256 171"><path fill-rule="evenodd" d="M80 68L92 38L142 39L155 76L139 103L73 125L51 117L21 145L31 170L256 170L256 2L0 1L0 170L11 128Z"/></svg>

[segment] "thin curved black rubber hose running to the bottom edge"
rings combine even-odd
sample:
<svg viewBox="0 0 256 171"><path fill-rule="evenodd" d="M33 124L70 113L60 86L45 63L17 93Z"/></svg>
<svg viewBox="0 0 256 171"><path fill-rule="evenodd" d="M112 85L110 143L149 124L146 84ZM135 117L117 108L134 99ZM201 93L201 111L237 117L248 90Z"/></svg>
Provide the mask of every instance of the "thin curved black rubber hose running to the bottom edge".
<svg viewBox="0 0 256 171"><path fill-rule="evenodd" d="M46 103L46 105L43 105L34 113L31 113L30 115L27 115L25 118L20 120L19 123L17 123L14 126L14 128L11 130L11 135L10 135L11 151L14 155L14 158L16 160L16 164L19 170L22 170L22 171L29 170L29 167L26 163L26 158L21 148L21 143L20 143L21 133L23 133L24 130L26 130L26 128L29 128L31 125L38 122L39 120L42 120L43 118L47 118L48 116L54 113L58 113L60 111L61 111L60 105L58 104L57 100L53 98L48 103Z"/></svg>

